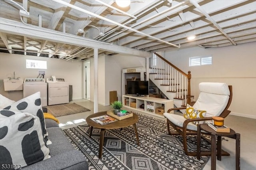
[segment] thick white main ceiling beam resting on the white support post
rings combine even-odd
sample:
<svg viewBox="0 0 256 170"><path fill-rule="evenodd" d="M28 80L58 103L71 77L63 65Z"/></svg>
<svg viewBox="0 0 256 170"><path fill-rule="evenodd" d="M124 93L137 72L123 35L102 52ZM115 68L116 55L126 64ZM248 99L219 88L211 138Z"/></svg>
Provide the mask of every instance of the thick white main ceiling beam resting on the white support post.
<svg viewBox="0 0 256 170"><path fill-rule="evenodd" d="M99 42L89 38L78 37L71 34L65 34L62 32L57 32L54 30L49 30L45 28L40 28L36 26L27 26L20 22L15 22L12 20L7 20L0 18L0 32L5 32L9 34L16 34L20 36L29 36L31 38L36 38L39 40L54 41L57 43L66 43L72 45L77 45L80 47L98 47L99 49L104 49L106 51L118 52L124 54L135 55L138 57L151 57L149 52L139 51L136 49L131 49L127 47L122 47L114 45L111 43Z"/></svg>

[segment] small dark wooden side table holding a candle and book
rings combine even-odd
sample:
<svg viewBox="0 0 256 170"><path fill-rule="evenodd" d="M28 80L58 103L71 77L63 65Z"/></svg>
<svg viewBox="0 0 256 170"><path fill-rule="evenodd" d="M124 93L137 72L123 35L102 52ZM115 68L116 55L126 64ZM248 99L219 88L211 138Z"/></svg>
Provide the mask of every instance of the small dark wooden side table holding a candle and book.
<svg viewBox="0 0 256 170"><path fill-rule="evenodd" d="M236 139L236 170L240 170L240 134L236 133L230 128L230 132L216 132L210 128L206 123L198 124L197 127L197 159L200 160L200 145L201 145L201 130L211 134L211 147L212 147L212 161L211 169L216 170L216 137L217 137L217 159L221 160L221 138L222 136Z"/></svg>

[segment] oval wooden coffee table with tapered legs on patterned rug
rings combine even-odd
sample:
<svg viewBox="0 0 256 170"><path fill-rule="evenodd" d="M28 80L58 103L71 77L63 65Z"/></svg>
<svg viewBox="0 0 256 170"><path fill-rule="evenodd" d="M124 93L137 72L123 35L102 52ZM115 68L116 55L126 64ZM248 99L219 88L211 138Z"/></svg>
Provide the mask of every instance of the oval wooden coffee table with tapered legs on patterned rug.
<svg viewBox="0 0 256 170"><path fill-rule="evenodd" d="M121 121L116 121L116 122L113 122L113 123L109 123L107 125L100 125L99 123L96 123L96 122L94 122L90 119L90 118L93 118L93 117L103 116L103 115L106 115L106 114L107 114L106 111L98 112L98 113L94 113L94 114L92 114L92 115L90 115L86 118L86 122L88 123L88 125L91 126L91 128L90 128L90 137L92 136L92 129L93 128L100 128L99 158L101 158L101 156L102 156L102 148L103 148L103 143L104 143L104 134L105 134L106 129L124 128L124 127L128 127L130 125L133 125L134 126L134 131L135 131L135 134L136 134L136 138L137 138L137 143L138 143L138 145L140 145L139 138L138 138L137 127L136 127L136 122L139 120L138 115L133 113L133 117L130 117L130 118L127 118L127 119L124 119L124 120L121 120Z"/></svg>

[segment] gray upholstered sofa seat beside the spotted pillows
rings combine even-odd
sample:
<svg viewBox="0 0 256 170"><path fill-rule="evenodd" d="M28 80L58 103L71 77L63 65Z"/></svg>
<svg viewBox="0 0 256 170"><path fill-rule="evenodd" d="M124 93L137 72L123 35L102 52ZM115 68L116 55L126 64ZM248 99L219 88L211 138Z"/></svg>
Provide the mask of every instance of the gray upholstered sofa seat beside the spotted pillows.
<svg viewBox="0 0 256 170"><path fill-rule="evenodd" d="M35 164L22 167L24 170L88 170L88 163L84 155L75 150L61 128L52 119L45 119L48 138L52 144L48 145L51 158Z"/></svg>

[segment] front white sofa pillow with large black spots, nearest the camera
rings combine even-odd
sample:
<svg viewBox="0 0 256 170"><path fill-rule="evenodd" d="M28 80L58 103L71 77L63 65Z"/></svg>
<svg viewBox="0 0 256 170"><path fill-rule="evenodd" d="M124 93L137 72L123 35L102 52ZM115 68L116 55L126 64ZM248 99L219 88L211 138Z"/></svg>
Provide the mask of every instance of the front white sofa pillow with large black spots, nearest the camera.
<svg viewBox="0 0 256 170"><path fill-rule="evenodd" d="M30 113L0 110L0 162L23 168L50 158L40 119ZM8 167L7 167L8 168Z"/></svg>

